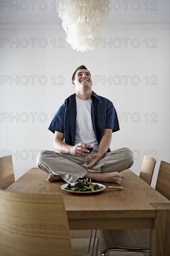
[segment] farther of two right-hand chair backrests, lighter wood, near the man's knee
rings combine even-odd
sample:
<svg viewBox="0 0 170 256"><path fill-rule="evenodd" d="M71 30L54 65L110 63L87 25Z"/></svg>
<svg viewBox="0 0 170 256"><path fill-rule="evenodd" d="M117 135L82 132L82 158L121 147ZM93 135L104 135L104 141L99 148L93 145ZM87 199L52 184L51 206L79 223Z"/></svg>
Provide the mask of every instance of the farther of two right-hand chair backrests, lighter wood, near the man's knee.
<svg viewBox="0 0 170 256"><path fill-rule="evenodd" d="M153 171L154 171L156 162L157 161L153 157L144 155L144 160L142 162L139 177L149 185L151 184L151 181L152 181Z"/></svg>

